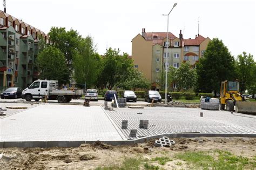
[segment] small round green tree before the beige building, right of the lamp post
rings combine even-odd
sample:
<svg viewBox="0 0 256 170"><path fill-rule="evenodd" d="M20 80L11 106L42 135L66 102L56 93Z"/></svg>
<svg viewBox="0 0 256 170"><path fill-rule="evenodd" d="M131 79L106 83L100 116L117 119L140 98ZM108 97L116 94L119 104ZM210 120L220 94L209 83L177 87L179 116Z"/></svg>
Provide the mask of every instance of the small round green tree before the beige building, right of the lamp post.
<svg viewBox="0 0 256 170"><path fill-rule="evenodd" d="M188 63L181 63L173 80L177 83L178 91L181 89L192 89L197 82L197 73L195 70L190 69Z"/></svg>

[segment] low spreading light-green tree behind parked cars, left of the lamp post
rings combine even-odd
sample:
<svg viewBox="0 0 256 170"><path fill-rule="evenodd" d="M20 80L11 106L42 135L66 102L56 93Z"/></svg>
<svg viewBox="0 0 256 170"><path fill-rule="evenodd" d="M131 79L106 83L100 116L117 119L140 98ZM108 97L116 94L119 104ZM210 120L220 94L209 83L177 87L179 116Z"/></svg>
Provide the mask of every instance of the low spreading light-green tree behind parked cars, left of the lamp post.
<svg viewBox="0 0 256 170"><path fill-rule="evenodd" d="M136 91L136 88L149 89L150 81L138 69L132 68L129 77L120 82L118 86L125 90L134 89L134 91Z"/></svg>

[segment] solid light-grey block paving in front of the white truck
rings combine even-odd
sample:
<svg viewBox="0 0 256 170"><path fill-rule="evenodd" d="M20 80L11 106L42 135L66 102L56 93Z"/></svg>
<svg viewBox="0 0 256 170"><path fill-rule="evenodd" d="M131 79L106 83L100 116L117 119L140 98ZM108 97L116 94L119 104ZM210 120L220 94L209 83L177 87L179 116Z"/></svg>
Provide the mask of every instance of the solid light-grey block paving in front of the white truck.
<svg viewBox="0 0 256 170"><path fill-rule="evenodd" d="M99 106L39 105L0 119L0 141L123 140Z"/></svg>

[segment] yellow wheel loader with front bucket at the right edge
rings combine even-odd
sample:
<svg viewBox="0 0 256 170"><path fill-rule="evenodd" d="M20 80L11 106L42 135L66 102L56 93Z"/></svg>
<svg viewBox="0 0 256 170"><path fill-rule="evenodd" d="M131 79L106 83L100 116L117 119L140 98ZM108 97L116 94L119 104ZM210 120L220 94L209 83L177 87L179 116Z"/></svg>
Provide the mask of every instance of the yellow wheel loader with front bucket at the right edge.
<svg viewBox="0 0 256 170"><path fill-rule="evenodd" d="M245 101L244 96L239 92L238 81L222 81L220 87L220 110L256 114L256 103Z"/></svg>

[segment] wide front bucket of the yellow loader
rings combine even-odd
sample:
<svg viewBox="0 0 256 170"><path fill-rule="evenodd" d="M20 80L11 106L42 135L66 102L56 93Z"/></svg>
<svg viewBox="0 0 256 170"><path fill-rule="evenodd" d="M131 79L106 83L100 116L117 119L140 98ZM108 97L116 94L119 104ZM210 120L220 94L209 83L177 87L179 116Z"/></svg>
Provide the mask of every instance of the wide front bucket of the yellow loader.
<svg viewBox="0 0 256 170"><path fill-rule="evenodd" d="M256 102L237 101L235 103L235 111L237 113L256 114Z"/></svg>

